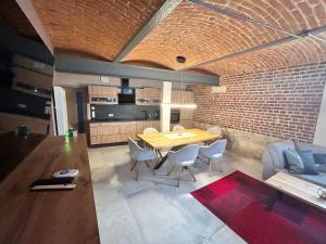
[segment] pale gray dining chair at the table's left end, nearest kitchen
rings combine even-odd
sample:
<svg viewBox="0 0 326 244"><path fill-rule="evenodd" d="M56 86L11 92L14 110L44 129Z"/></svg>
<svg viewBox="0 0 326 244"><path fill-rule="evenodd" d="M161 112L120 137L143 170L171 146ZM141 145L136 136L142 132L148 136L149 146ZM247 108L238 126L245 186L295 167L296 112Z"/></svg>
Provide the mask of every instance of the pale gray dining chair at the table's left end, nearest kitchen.
<svg viewBox="0 0 326 244"><path fill-rule="evenodd" d="M146 163L147 167L149 167L154 175L154 169L150 166L150 164L151 164L151 162L153 162L158 158L155 153L149 149L140 147L137 144L137 142L130 138L128 138L128 146L129 146L129 153L130 153L130 157L131 157L130 171L133 171L134 168L136 168L136 180L138 180L139 167L142 162Z"/></svg>

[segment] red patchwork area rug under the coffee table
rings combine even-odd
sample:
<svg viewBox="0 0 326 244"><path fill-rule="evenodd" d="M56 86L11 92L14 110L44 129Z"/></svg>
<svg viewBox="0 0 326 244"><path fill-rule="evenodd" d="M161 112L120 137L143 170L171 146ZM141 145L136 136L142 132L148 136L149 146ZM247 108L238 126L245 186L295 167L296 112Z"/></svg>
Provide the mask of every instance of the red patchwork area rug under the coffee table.
<svg viewBox="0 0 326 244"><path fill-rule="evenodd" d="M191 194L248 243L326 244L326 213L286 195L267 211L272 191L235 171Z"/></svg>

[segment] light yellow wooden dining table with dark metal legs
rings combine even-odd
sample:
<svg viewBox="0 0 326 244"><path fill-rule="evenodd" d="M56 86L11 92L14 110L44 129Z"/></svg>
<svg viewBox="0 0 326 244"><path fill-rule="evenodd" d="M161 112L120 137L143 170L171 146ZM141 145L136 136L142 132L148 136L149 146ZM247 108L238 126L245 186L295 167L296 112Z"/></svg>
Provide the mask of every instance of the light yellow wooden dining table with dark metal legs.
<svg viewBox="0 0 326 244"><path fill-rule="evenodd" d="M158 152L160 155L161 160L156 164L154 169L159 169L167 158L167 155L162 156L162 149L172 149L172 151L175 151L185 145L213 141L221 138L220 136L210 133L202 129L186 129L150 134L137 134L137 137L143 141L148 147Z"/></svg>

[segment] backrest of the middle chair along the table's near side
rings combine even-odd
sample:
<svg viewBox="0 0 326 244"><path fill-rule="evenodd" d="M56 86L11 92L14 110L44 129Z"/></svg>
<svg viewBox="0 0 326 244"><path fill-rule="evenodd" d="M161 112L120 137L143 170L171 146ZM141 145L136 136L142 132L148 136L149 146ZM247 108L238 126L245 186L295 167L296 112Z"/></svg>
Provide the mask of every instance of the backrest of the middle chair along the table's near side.
<svg viewBox="0 0 326 244"><path fill-rule="evenodd" d="M200 145L198 144L187 145L176 152L168 152L167 158L174 164L183 164L185 162L193 164L197 159L199 149Z"/></svg>

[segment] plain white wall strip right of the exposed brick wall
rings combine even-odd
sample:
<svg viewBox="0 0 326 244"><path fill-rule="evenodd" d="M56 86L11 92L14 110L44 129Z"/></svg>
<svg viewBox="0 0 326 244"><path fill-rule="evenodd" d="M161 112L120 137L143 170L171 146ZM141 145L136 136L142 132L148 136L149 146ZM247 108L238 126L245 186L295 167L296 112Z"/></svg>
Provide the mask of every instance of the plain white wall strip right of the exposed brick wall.
<svg viewBox="0 0 326 244"><path fill-rule="evenodd" d="M324 87L319 115L315 129L314 144L326 146L326 86Z"/></svg>

